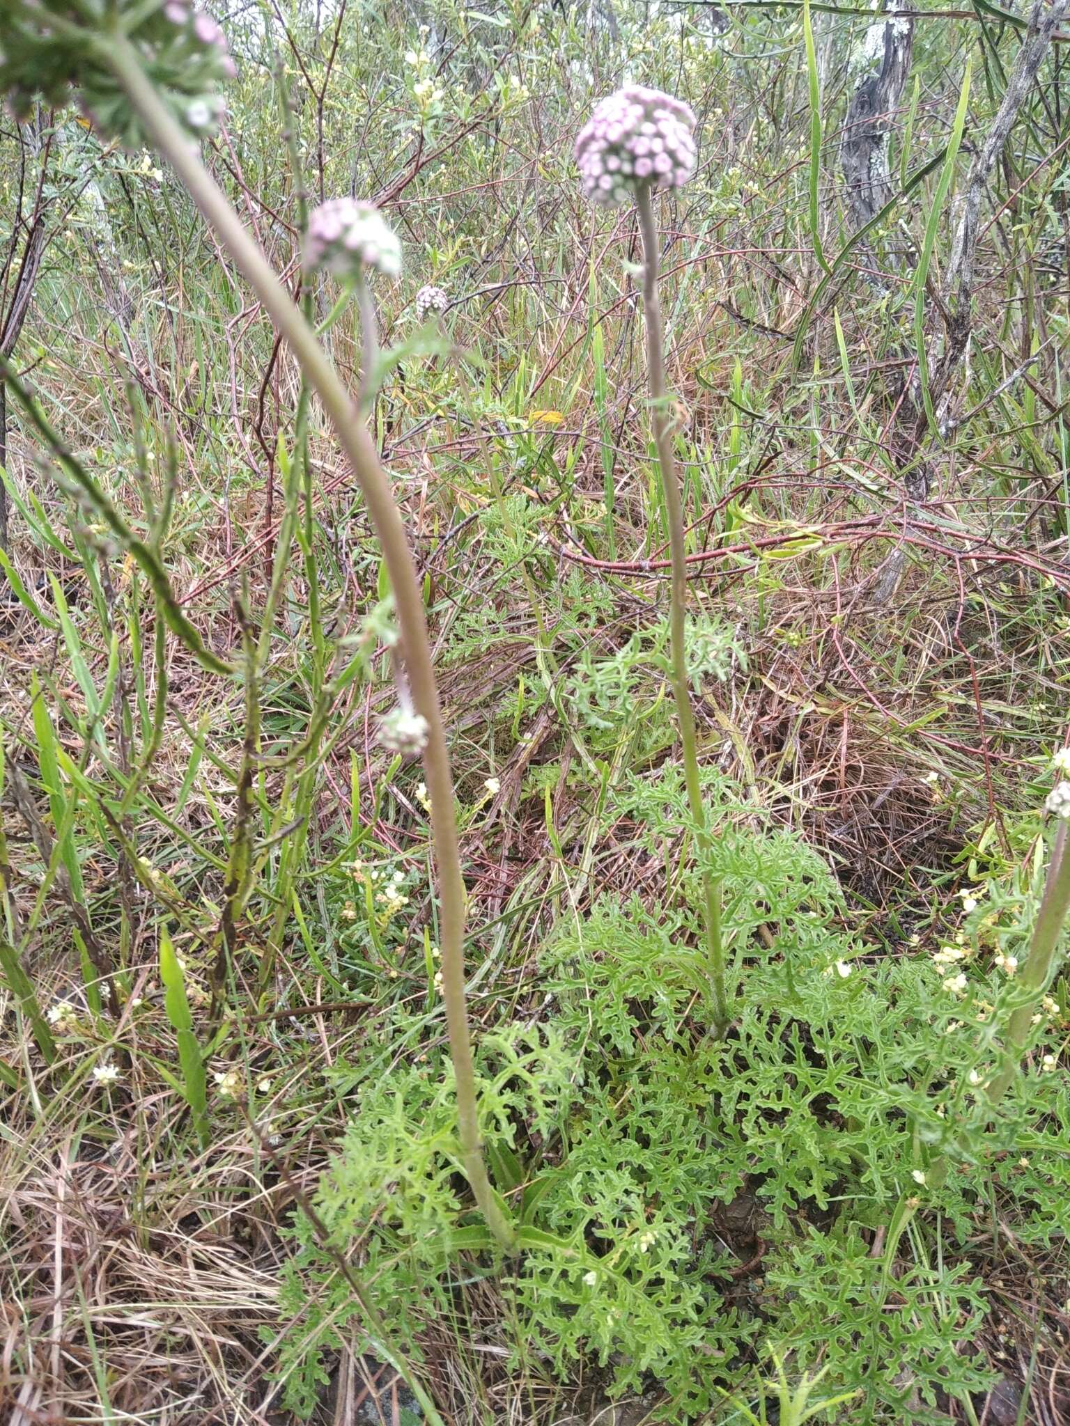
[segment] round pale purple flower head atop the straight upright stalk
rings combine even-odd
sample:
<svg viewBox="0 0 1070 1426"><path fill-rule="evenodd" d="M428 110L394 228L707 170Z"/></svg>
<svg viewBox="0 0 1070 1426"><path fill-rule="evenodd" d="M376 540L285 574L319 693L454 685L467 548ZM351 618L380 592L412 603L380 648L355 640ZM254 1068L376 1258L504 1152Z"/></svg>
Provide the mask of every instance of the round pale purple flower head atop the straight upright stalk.
<svg viewBox="0 0 1070 1426"><path fill-rule="evenodd" d="M626 84L581 130L576 163L592 202L626 202L639 184L679 188L695 173L695 116L671 94Z"/></svg>

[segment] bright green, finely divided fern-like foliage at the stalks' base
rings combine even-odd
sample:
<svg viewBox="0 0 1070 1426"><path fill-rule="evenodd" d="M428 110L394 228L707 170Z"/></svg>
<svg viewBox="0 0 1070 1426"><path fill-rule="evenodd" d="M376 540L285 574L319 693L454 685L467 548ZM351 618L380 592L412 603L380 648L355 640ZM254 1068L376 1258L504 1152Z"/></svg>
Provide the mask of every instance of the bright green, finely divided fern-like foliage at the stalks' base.
<svg viewBox="0 0 1070 1426"><path fill-rule="evenodd" d="M686 900L605 898L551 937L526 1017L479 1045L482 1129L524 1252L489 1253L445 1062L425 1048L429 1027L397 1010L389 1042L418 1048L352 1085L320 1215L417 1356L431 1322L464 1335L472 1285L494 1279L505 1309L484 1336L559 1378L598 1362L613 1392L656 1383L666 1420L719 1407L763 1343L856 1392L843 1420L946 1420L949 1397L986 1382L969 1253L993 1196L1016 1199L1024 1238L1059 1232L1067 1091L1034 1077L993 1122L983 1084L1006 977L979 960L949 990L927 957L867 957L823 861L713 774L708 794L739 991L730 1032L710 1034ZM688 826L671 769L632 779L615 811L662 857ZM686 891L698 868L682 876ZM930 1185L937 1155L947 1171ZM743 1289L740 1245L720 1228L740 1201L762 1253ZM355 1308L310 1231L295 1236L287 1305L305 1310L285 1369L300 1410Z"/></svg>

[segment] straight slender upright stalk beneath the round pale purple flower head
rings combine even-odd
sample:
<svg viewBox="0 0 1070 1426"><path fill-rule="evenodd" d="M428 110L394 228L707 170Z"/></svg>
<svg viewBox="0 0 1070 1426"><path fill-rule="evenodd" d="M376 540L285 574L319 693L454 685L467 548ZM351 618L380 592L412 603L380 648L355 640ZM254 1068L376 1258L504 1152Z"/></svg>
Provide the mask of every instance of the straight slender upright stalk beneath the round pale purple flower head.
<svg viewBox="0 0 1070 1426"><path fill-rule="evenodd" d="M713 1021L718 1034L723 1034L730 1017L725 991L725 948L720 937L720 881L709 870L708 861L710 836L706 821L706 807L702 801L695 713L691 706L691 686L688 680L688 655L685 647L688 563L683 536L683 501L676 476L676 461L672 453L669 416L665 409L665 351L662 344L662 312L658 299L658 225L653 220L649 184L641 184L636 188L635 205L639 212L639 231L643 240L643 312L646 315L646 366L651 384L653 441L658 448L658 465L661 466L662 499L665 501L665 513L669 520L669 553L672 559L672 595L669 602L672 696L676 703L676 722L681 727L683 780L688 786L688 803L691 804L691 816L696 827L699 853L705 860L702 867L702 900L710 985L713 990Z"/></svg>

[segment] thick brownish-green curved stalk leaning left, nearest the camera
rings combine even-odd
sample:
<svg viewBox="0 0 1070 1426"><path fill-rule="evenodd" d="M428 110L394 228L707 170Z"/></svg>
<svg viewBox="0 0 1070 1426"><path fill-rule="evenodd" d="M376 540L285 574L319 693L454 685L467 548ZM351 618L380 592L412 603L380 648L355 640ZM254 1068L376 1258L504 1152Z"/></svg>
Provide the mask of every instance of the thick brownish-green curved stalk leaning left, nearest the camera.
<svg viewBox="0 0 1070 1426"><path fill-rule="evenodd" d="M457 1115L464 1169L488 1228L502 1248L511 1248L514 1229L491 1188L479 1142L475 1067L465 1007L465 888L457 838L454 783L424 619L424 602L401 515L364 422L327 354L320 347L315 332L291 301L257 242L245 231L225 194L200 161L195 147L190 144L188 137L161 103L141 67L137 50L116 30L101 46L101 57L111 67L141 123L151 134L156 147L171 164L205 221L227 248L271 315L275 328L294 352L307 381L324 404L367 501L394 590L401 650L412 703L428 724L424 777L431 796L431 830L441 917L442 1000L457 1081Z"/></svg>

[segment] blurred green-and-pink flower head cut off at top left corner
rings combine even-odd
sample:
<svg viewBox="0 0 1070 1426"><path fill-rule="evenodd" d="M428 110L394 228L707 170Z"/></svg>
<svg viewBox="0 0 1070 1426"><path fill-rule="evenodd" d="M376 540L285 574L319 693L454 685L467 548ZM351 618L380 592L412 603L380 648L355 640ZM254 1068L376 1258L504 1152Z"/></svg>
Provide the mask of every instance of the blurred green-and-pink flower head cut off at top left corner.
<svg viewBox="0 0 1070 1426"><path fill-rule="evenodd" d="M14 14L7 13L14 9ZM33 7L6 7L0 50L0 93L16 114L34 98L61 107L70 91L96 128L127 148L143 147L147 134L126 91L100 57L97 23L88 6L70 0L37 0ZM148 80L193 137L211 133L223 113L217 88L234 77L223 30L194 0L114 0L128 40L137 47ZM84 29L84 36L77 33Z"/></svg>

